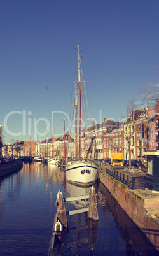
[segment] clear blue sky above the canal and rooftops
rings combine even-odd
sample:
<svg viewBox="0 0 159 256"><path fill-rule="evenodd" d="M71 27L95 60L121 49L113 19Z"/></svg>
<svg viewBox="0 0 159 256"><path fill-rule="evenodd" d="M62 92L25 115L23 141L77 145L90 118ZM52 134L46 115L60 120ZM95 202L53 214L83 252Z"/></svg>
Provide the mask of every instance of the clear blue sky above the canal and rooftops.
<svg viewBox="0 0 159 256"><path fill-rule="evenodd" d="M31 129L32 139L37 129L46 138L46 127L50 137L51 117L62 136L76 45L91 117L121 120L139 88L159 83L158 13L158 0L0 0L3 142L29 140Z"/></svg>

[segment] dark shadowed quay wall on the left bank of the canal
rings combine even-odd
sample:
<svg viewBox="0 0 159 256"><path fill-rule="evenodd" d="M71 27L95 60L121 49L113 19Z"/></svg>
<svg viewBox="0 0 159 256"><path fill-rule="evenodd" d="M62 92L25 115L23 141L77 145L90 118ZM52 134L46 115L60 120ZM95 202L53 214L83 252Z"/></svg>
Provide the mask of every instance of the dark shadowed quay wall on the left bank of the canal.
<svg viewBox="0 0 159 256"><path fill-rule="evenodd" d="M22 168L23 162L21 160L11 160L7 164L0 164L0 178L10 173L15 173Z"/></svg>

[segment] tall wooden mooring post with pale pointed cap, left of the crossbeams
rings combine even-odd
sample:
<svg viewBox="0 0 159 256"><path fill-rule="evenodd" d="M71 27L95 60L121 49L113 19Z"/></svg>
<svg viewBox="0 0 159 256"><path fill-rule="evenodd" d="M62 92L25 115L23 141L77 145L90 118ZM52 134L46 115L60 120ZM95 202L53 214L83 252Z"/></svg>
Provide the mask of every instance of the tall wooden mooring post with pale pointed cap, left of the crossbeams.
<svg viewBox="0 0 159 256"><path fill-rule="evenodd" d="M66 209L64 199L62 197L62 192L59 191L57 193L57 218L59 218L64 227L67 227Z"/></svg>

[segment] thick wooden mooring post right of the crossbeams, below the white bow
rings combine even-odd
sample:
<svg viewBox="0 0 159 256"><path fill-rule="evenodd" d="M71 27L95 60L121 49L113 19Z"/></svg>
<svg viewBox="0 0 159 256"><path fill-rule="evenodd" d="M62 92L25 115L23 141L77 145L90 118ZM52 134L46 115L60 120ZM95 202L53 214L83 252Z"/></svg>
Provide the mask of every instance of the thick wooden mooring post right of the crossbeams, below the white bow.
<svg viewBox="0 0 159 256"><path fill-rule="evenodd" d="M95 194L95 188L93 188L93 186L90 188L88 203L89 203L88 218L92 220L99 220L99 214L98 214L98 208L97 208L97 194Z"/></svg>

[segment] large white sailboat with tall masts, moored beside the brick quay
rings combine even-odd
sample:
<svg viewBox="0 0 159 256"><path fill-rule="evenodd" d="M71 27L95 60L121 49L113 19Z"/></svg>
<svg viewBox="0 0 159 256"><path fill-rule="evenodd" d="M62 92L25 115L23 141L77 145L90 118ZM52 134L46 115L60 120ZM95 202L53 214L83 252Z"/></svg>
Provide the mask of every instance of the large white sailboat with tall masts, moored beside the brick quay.
<svg viewBox="0 0 159 256"><path fill-rule="evenodd" d="M76 159L74 161L67 162L66 165L66 180L69 183L73 183L78 186L90 186L97 181L98 166L93 160L82 159L81 157L81 60L80 51L78 45L78 93L75 83L75 147L76 147ZM77 97L78 95L78 97ZM78 114L77 115L77 106ZM79 124L77 124L79 120ZM77 131L79 127L79 133ZM79 136L79 141L78 141ZM78 143L79 142L79 143ZM78 148L79 144L79 148Z"/></svg>

